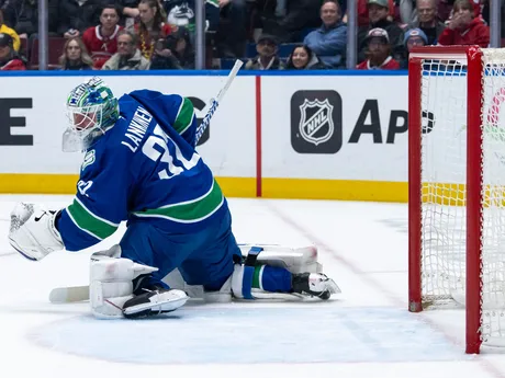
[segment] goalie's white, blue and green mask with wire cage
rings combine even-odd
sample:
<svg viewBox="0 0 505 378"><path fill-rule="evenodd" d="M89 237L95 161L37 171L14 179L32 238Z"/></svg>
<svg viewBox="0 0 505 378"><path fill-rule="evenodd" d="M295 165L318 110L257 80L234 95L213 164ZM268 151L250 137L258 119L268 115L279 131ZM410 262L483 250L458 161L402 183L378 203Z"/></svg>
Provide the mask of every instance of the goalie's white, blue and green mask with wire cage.
<svg viewBox="0 0 505 378"><path fill-rule="evenodd" d="M69 126L63 136L63 150L87 150L114 126L119 114L117 99L102 79L96 77L76 87L67 99Z"/></svg>

